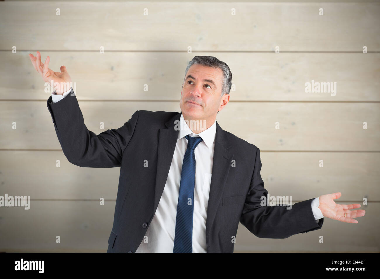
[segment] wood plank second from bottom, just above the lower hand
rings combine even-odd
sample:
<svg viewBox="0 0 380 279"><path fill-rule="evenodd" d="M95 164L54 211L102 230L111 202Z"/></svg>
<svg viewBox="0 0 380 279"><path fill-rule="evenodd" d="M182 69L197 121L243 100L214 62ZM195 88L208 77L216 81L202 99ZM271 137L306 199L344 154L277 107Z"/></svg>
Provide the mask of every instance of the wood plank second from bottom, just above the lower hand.
<svg viewBox="0 0 380 279"><path fill-rule="evenodd" d="M0 157L0 195L33 200L116 199L119 167L78 167L68 162L62 151L0 151ZM342 192L340 200L360 202L366 197L380 201L378 153L263 151L260 157L261 177L270 195L307 200ZM319 160L323 167L318 166Z"/></svg>

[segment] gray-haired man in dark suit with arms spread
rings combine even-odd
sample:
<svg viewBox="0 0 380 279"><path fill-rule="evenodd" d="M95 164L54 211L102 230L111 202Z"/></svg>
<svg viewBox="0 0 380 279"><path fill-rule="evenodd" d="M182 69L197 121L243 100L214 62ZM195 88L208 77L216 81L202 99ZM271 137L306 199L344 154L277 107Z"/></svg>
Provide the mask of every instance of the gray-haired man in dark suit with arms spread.
<svg viewBox="0 0 380 279"><path fill-rule="evenodd" d="M49 57L30 54L44 81L71 83ZM119 129L88 131L72 88L47 101L63 153L81 167L120 167L107 252L233 252L239 221L261 238L321 229L323 217L357 223L359 204L340 193L287 206L266 206L260 150L224 131L217 113L230 100L232 74L211 56L194 57L182 84L181 112L137 110ZM68 91L66 91L69 89ZM66 92L65 92L66 91Z"/></svg>

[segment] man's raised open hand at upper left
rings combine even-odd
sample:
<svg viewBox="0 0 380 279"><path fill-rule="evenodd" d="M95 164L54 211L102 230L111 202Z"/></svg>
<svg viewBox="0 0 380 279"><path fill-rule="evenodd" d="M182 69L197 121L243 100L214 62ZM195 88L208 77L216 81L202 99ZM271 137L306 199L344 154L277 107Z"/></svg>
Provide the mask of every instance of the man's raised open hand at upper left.
<svg viewBox="0 0 380 279"><path fill-rule="evenodd" d="M41 54L37 51L37 57L33 54L29 54L30 60L36 71L41 74L42 79L49 84L53 84L54 90L57 94L62 95L65 91L70 90L71 87L71 77L67 73L66 66L61 66L60 73L54 72L49 69L50 57L46 57L45 63L41 62Z"/></svg>

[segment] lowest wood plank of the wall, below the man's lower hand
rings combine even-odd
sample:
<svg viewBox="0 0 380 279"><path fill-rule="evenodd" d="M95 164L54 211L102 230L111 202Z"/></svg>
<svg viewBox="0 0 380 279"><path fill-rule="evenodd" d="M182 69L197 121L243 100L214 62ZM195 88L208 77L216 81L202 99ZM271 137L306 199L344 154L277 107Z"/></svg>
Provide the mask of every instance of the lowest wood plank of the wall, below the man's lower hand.
<svg viewBox="0 0 380 279"><path fill-rule="evenodd" d="M34 201L29 210L6 207L0 211L0 251L106 252L115 202ZM285 239L257 238L242 224L234 252L379 252L379 203L362 206L358 224L325 218L321 230ZM59 235L61 243L55 243ZM322 235L324 243L318 243ZM360 237L358 237L360 236Z"/></svg>

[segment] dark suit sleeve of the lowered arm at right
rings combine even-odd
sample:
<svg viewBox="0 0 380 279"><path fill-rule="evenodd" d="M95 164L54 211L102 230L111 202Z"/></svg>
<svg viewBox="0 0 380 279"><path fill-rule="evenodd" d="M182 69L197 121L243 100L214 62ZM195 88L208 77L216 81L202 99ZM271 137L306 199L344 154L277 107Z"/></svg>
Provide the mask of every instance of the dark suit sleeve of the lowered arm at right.
<svg viewBox="0 0 380 279"><path fill-rule="evenodd" d="M321 229L323 218L315 221L311 203L313 199L295 203L291 209L287 206L261 206L268 197L261 179L260 149L256 148L255 166L249 192L247 194L240 222L254 235L260 238L288 238L297 233Z"/></svg>

